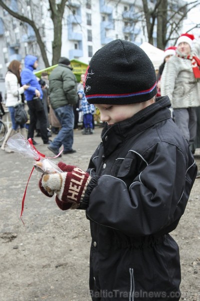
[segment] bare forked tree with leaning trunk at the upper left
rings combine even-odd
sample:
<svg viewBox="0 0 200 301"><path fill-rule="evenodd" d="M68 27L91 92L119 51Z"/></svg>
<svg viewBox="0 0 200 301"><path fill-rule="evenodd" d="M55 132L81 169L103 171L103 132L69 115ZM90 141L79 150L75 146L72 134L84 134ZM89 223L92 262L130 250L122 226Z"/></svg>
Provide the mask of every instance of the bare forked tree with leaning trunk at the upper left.
<svg viewBox="0 0 200 301"><path fill-rule="evenodd" d="M50 10L50 18L53 23L53 33L54 33L54 38L53 38L53 43L52 43L52 65L57 64L58 59L60 58L61 54L61 36L62 36L62 18L64 14L64 9L65 9L65 4L67 0L60 0L59 3L55 0L48 0L49 3L49 10ZM34 33L35 37L37 40L37 44L39 46L41 56L44 62L45 67L49 67L50 64L47 59L46 55L46 49L44 42L42 40L41 34L40 34L40 25L41 22L36 22L36 20L32 17L28 18L24 16L23 14L20 14L18 12L15 12L11 10L6 4L6 1L0 0L0 6L8 12L12 17L29 24ZM23 3L24 6L24 3ZM38 20L37 20L38 21ZM41 20L39 20L41 21Z"/></svg>

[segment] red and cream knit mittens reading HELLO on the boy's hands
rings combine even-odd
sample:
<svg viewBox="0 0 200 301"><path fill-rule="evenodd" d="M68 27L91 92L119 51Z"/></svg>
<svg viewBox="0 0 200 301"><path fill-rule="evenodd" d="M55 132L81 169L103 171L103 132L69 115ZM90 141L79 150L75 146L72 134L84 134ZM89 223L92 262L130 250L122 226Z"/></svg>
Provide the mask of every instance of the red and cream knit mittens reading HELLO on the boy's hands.
<svg viewBox="0 0 200 301"><path fill-rule="evenodd" d="M43 175L39 181L39 188L48 197L56 193L55 201L60 209L78 208L90 176L81 169L64 163L59 163L58 167L63 170L63 173Z"/></svg>

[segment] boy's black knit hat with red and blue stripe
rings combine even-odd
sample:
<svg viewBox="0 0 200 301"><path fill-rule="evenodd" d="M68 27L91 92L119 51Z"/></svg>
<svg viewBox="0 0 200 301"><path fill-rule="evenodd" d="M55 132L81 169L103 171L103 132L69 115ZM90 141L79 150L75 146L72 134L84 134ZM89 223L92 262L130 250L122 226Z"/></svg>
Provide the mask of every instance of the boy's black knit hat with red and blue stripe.
<svg viewBox="0 0 200 301"><path fill-rule="evenodd" d="M155 69L145 52L133 43L114 40L91 58L84 78L89 103L129 104L156 93Z"/></svg>

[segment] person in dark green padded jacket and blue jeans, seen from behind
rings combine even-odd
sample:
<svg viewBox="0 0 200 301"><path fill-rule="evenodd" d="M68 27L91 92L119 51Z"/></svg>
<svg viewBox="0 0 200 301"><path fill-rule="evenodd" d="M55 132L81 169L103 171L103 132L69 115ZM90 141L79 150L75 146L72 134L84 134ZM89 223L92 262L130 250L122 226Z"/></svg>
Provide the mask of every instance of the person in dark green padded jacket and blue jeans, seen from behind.
<svg viewBox="0 0 200 301"><path fill-rule="evenodd" d="M57 156L60 153L59 148L63 145L62 154L75 153L76 151L72 149L72 144L73 105L77 102L76 78L72 72L69 59L65 57L61 57L58 60L58 66L49 75L49 99L61 129L48 145L48 149ZM61 157L61 154L59 157Z"/></svg>

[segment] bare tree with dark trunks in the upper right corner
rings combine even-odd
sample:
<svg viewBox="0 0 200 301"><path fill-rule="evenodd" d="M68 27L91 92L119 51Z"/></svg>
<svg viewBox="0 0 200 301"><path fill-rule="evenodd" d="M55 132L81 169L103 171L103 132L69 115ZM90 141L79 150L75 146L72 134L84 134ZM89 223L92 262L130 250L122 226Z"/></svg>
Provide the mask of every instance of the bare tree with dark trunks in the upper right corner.
<svg viewBox="0 0 200 301"><path fill-rule="evenodd" d="M147 0L142 0L142 5L148 42L153 45L153 32L156 31L156 46L163 50L168 41L174 40L175 44L183 20L190 10L200 5L200 1L177 3L171 0L156 0L152 4ZM199 26L200 23L190 30Z"/></svg>

